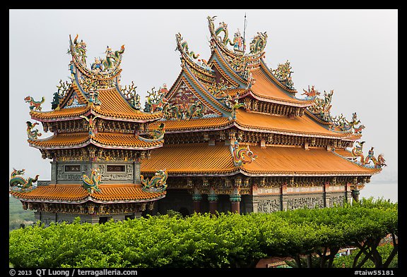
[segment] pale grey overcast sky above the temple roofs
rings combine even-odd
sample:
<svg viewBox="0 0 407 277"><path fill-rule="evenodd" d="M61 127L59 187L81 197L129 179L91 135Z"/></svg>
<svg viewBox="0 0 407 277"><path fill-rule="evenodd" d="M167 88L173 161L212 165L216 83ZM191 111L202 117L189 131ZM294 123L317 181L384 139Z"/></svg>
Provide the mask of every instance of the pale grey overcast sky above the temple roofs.
<svg viewBox="0 0 407 277"><path fill-rule="evenodd" d="M217 16L216 26L227 23L232 39L237 29L244 30L244 14L247 42L267 32L267 66L290 61L297 97L308 85L322 94L334 90L331 115L350 119L357 112L365 125L365 155L374 147L375 156L384 154L387 161L381 174L396 174L398 11L390 9L10 10L9 172L25 168L25 177L50 180L50 160L28 146L25 121L32 120L23 99L45 97L42 111L51 110L59 80L69 80L69 35L86 42L88 67L105 56L107 45L119 50L124 44L122 86L134 81L143 103L147 90L171 87L181 70L175 34L181 33L189 51L208 59L207 16ZM43 133L42 126L39 130Z"/></svg>

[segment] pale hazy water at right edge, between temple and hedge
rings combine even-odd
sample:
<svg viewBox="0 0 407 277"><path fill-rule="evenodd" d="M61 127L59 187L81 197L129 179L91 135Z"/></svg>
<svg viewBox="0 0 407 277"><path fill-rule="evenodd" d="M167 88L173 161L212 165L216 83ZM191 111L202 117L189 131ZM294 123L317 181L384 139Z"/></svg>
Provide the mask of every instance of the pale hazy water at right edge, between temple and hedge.
<svg viewBox="0 0 407 277"><path fill-rule="evenodd" d="M359 197L374 197L374 199L382 198L390 202L398 202L398 182L386 181L386 180L376 180L371 181L365 185L363 190L360 190Z"/></svg>

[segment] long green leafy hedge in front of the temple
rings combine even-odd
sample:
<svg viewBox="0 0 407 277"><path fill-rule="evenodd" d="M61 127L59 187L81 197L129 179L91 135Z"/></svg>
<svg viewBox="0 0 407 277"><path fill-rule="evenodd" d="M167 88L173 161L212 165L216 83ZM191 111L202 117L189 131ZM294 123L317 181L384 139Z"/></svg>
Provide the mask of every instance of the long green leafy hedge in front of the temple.
<svg viewBox="0 0 407 277"><path fill-rule="evenodd" d="M340 247L397 234L397 204L362 200L271 214L175 214L95 225L77 218L48 227L37 223L9 233L9 261L15 267L44 268L220 268L293 257L304 266L300 255L317 253L321 266L332 266Z"/></svg>

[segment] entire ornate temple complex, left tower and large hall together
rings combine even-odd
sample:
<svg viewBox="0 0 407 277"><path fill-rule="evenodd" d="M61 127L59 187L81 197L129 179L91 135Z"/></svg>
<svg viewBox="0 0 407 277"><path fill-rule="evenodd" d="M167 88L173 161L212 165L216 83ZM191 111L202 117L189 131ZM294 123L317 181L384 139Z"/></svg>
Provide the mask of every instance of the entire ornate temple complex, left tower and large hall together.
<svg viewBox="0 0 407 277"><path fill-rule="evenodd" d="M10 193L41 221L104 222L143 213L272 212L358 201L384 158L360 142L364 125L330 113L334 91L297 92L289 61L269 68L266 32L244 35L208 17L206 60L175 35L182 69L171 87L120 85L124 46L86 67L86 44L70 37L71 82L52 111L26 97L28 144L52 159L51 180L11 173ZM33 183L37 182L37 185Z"/></svg>

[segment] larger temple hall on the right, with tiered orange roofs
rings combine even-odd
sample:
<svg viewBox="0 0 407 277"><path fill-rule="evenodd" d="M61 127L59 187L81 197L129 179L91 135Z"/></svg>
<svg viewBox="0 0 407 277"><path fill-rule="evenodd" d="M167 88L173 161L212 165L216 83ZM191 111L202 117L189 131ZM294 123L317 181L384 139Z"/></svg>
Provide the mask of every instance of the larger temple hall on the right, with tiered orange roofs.
<svg viewBox="0 0 407 277"><path fill-rule="evenodd" d="M207 19L211 56L201 59L177 34L182 69L156 96L165 144L141 171L167 169L158 211L271 212L357 200L385 165L373 149L363 155L357 114L331 116L333 90L312 85L298 93L289 61L269 68L266 32L246 49L239 31L231 39L226 23Z"/></svg>

